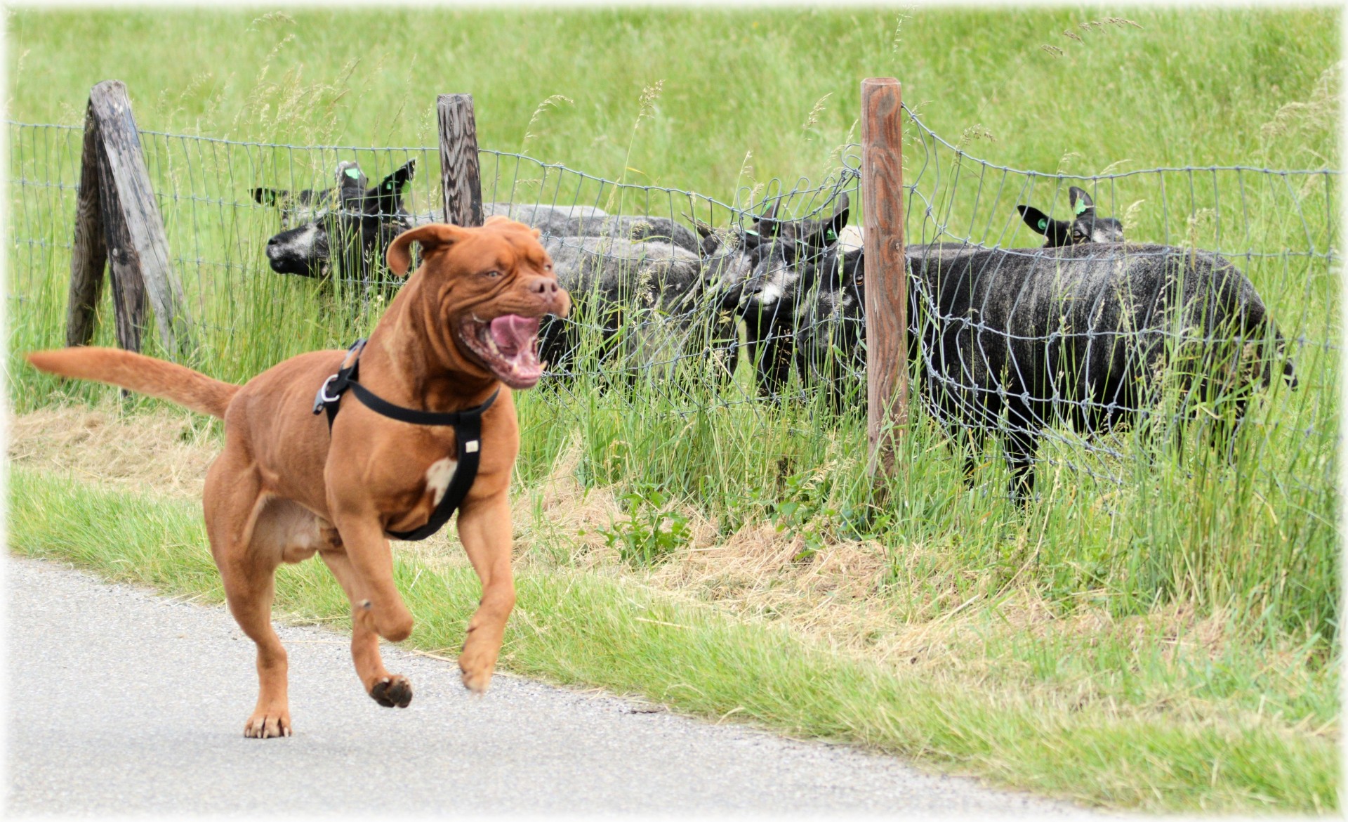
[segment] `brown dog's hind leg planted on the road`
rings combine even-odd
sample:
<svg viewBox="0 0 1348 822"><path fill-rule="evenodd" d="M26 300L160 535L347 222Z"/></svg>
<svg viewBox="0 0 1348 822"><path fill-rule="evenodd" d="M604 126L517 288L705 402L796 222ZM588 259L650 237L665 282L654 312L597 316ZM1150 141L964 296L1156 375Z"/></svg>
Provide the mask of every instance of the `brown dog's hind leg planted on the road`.
<svg viewBox="0 0 1348 822"><path fill-rule="evenodd" d="M271 626L280 552L257 551L251 544L253 520L263 505L256 474L226 441L225 451L206 474L206 533L225 584L229 611L257 645L257 705L244 725L244 736L253 738L291 734L286 649Z"/></svg>

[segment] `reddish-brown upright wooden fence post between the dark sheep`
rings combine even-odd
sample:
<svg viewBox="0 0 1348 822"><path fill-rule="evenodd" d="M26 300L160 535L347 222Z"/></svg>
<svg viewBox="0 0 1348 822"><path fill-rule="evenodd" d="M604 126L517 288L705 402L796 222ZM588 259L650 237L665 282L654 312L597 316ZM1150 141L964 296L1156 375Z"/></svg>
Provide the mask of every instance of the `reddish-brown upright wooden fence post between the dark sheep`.
<svg viewBox="0 0 1348 822"><path fill-rule="evenodd" d="M869 470L894 472L909 422L909 282L903 252L902 86L861 81L861 202L865 211L865 383Z"/></svg>

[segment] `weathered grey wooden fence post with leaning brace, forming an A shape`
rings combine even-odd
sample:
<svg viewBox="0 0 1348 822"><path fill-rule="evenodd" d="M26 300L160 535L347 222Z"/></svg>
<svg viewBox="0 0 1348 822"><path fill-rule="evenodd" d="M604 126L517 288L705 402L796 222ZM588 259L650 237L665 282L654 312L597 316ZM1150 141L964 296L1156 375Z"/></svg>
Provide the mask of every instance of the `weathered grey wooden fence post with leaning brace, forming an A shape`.
<svg viewBox="0 0 1348 822"><path fill-rule="evenodd" d="M140 351L148 297L164 351L189 356L193 347L182 285L168 265L163 217L120 80L105 80L89 92L70 256L67 346L93 339L105 266L112 269L117 344Z"/></svg>

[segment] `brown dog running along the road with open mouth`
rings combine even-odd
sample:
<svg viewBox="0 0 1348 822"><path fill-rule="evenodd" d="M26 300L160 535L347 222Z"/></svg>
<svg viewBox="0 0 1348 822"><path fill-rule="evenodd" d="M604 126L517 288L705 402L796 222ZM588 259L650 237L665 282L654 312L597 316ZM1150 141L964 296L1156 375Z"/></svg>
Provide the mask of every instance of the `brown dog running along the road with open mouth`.
<svg viewBox="0 0 1348 822"><path fill-rule="evenodd" d="M395 239L390 269L407 273L412 243L423 262L371 333L360 383L388 402L431 412L481 405L501 383L537 383L539 317L570 309L537 238L537 229L496 217L481 228L423 225ZM229 610L257 644L260 692L244 726L248 737L291 733L286 649L271 626L274 575L280 563L315 552L350 598L350 652L365 691L388 707L411 701L407 679L390 674L379 656L380 636L396 642L412 630L394 587L386 532L427 521L458 449L453 428L392 420L352 397L329 432L314 413L314 395L346 356L301 354L236 386L115 348L28 355L43 371L109 382L225 420L225 449L206 474L205 513ZM460 540L483 582L458 657L474 692L491 682L515 605L508 486L519 425L510 390L483 413L480 439L477 479L458 512Z"/></svg>

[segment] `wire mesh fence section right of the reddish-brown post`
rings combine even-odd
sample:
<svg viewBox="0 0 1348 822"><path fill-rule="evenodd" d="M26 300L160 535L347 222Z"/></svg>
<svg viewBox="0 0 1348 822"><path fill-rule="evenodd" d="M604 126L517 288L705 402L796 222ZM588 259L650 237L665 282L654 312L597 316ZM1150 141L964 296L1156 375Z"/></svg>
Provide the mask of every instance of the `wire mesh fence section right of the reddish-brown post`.
<svg viewBox="0 0 1348 822"><path fill-rule="evenodd" d="M1248 428L1248 470L1330 483L1293 466L1333 449L1337 171L1043 174L909 126L918 394L1000 441L1012 491L1037 462L1132 479L1196 418L1228 454Z"/></svg>

